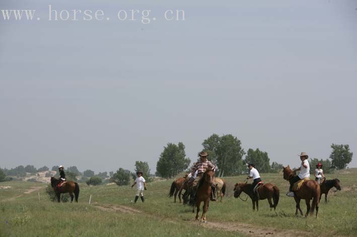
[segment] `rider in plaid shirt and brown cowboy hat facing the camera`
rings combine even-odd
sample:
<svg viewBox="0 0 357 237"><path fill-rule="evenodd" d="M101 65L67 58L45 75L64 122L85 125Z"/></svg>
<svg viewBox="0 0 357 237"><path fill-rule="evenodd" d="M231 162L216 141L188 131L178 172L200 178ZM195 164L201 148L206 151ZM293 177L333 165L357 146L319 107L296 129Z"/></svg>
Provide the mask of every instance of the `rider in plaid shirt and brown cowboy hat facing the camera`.
<svg viewBox="0 0 357 237"><path fill-rule="evenodd" d="M193 195L191 196L191 199L196 198L196 192L198 188L198 183L199 180L202 178L204 172L206 172L207 168L210 168L211 170L215 170L215 166L207 160L207 152L201 152L199 153L199 160L196 162L196 164L192 167L191 172L188 174L188 178L192 177L192 174L194 174L197 171L197 177L193 180L192 182L192 189L193 189ZM215 194L215 186L212 184L211 186L211 201L216 201L216 194Z"/></svg>

